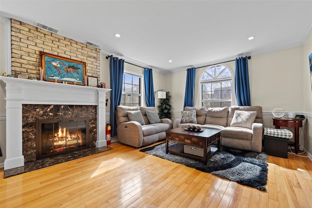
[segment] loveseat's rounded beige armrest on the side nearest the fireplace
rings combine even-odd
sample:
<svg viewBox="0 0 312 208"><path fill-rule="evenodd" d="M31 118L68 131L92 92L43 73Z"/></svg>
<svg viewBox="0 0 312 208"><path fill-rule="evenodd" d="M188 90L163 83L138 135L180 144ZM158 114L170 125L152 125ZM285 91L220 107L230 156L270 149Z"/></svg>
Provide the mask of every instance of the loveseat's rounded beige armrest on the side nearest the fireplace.
<svg viewBox="0 0 312 208"><path fill-rule="evenodd" d="M131 145L133 147L141 147L143 144L142 126L137 121L129 121L120 123L117 127L118 141Z"/></svg>

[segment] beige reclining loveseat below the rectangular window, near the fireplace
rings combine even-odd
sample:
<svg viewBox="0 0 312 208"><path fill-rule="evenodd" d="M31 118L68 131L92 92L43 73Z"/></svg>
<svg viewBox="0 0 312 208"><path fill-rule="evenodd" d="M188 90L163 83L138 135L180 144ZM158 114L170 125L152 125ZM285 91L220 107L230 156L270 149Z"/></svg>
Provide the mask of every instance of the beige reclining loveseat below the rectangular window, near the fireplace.
<svg viewBox="0 0 312 208"><path fill-rule="evenodd" d="M133 114L138 121L130 121L134 120ZM165 139L165 131L172 129L172 121L169 118L159 119L155 107L117 106L115 115L118 141L133 147L141 147ZM141 115L143 120L140 120ZM151 115L154 117L151 118ZM149 119L153 122L158 120L158 122L151 124Z"/></svg>

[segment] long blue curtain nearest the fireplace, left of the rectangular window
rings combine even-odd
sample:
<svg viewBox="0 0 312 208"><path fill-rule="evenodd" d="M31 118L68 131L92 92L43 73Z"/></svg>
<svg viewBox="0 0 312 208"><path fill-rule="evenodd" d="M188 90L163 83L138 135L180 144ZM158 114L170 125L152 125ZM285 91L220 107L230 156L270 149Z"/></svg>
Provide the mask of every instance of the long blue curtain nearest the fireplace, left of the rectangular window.
<svg viewBox="0 0 312 208"><path fill-rule="evenodd" d="M110 74L111 74L111 136L117 135L117 124L115 120L115 110L121 102L122 95L122 80L124 70L124 60L111 56L110 59Z"/></svg>

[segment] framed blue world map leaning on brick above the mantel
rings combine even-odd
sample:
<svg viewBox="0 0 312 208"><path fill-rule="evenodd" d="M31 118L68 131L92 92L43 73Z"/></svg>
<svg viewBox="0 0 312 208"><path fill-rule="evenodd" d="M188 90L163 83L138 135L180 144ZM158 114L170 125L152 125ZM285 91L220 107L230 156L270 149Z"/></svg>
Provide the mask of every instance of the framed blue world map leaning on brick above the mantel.
<svg viewBox="0 0 312 208"><path fill-rule="evenodd" d="M40 52L39 66L43 68L45 81L85 85L86 63L83 61Z"/></svg>

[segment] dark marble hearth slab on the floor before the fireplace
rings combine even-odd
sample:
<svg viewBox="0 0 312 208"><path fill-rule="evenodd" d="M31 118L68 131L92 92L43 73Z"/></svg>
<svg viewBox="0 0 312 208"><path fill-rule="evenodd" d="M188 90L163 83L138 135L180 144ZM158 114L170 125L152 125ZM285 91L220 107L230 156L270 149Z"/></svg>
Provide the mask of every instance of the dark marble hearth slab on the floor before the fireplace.
<svg viewBox="0 0 312 208"><path fill-rule="evenodd" d="M92 154L96 154L103 151L113 150L111 147L101 147L101 148L89 148L80 151L73 151L66 154L61 154L54 157L45 158L42 160L36 160L31 162L25 162L24 166L18 168L12 168L4 170L4 178L18 175L24 172L29 172L33 170L38 170L41 168L46 168L49 166L57 165L59 163L64 163L67 161L75 160L81 157L86 157Z"/></svg>

